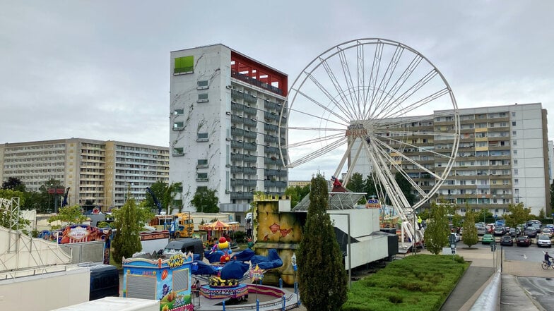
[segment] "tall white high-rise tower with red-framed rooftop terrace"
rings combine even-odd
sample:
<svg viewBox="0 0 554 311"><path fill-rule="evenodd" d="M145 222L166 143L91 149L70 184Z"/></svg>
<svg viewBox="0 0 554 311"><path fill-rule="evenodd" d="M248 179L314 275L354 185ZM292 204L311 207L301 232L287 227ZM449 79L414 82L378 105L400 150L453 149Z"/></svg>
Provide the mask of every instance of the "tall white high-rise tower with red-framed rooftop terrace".
<svg viewBox="0 0 554 311"><path fill-rule="evenodd" d="M255 191L284 193L278 122L287 83L222 44L171 52L170 182L182 183L186 209L199 188L216 190L224 212L245 212Z"/></svg>

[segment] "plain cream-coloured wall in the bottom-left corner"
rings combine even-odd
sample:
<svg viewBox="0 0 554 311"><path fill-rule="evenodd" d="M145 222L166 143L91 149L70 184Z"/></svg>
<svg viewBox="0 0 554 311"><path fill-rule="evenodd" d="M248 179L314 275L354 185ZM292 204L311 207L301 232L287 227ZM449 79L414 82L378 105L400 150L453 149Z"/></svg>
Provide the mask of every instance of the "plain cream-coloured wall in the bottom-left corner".
<svg viewBox="0 0 554 311"><path fill-rule="evenodd" d="M0 310L46 311L84 303L90 291L88 268L0 281Z"/></svg>

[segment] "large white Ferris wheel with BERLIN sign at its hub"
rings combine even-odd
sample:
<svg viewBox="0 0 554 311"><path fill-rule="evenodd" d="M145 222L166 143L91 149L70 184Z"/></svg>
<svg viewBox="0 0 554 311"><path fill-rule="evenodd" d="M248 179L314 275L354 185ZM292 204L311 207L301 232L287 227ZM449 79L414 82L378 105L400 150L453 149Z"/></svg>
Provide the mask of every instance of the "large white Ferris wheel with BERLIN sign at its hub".
<svg viewBox="0 0 554 311"><path fill-rule="evenodd" d="M371 171L377 192L401 214L427 202L447 179L460 130L442 73L415 49L377 38L338 44L308 64L290 87L279 128L288 131L279 145L285 166L336 164L339 176L348 162L344 185L353 173ZM397 172L415 190L413 204Z"/></svg>

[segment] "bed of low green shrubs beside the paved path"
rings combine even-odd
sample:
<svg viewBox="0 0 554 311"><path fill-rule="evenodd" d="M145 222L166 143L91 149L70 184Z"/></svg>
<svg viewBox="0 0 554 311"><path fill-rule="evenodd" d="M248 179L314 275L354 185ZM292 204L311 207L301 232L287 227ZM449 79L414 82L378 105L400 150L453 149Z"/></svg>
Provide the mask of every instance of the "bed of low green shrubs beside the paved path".
<svg viewBox="0 0 554 311"><path fill-rule="evenodd" d="M352 283L342 310L439 310L466 269L456 255L416 255L395 260Z"/></svg>

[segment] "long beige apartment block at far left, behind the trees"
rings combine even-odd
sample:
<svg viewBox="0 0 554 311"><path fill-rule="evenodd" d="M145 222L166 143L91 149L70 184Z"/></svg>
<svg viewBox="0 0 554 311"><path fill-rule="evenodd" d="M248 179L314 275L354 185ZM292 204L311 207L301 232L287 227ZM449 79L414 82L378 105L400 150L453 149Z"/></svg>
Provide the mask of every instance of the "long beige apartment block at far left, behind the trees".
<svg viewBox="0 0 554 311"><path fill-rule="evenodd" d="M29 191L50 179L69 187L69 205L92 201L102 211L121 207L126 193L143 200L146 187L169 181L169 149L131 142L69 138L0 145L0 180L19 178ZM52 203L61 206L61 197ZM54 200L54 199L53 199Z"/></svg>

